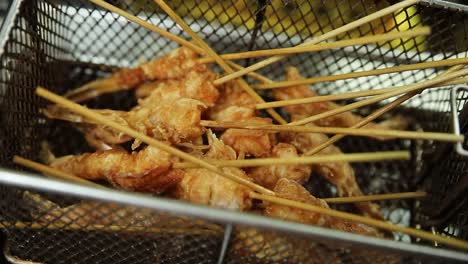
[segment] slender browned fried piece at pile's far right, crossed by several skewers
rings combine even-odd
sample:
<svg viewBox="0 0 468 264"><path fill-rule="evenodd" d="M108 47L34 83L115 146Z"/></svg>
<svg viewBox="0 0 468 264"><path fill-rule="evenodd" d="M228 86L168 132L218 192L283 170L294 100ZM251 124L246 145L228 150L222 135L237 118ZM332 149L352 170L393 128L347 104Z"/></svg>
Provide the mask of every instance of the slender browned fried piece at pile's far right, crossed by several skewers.
<svg viewBox="0 0 468 264"><path fill-rule="evenodd" d="M294 117L293 117L294 118ZM309 124L313 126L313 124ZM307 152L316 146L328 140L328 137L320 133L281 133L280 138L294 145L300 152ZM331 145L323 149L318 155L331 155L342 154L343 152L336 146ZM313 165L313 171L317 172L320 176L333 183L337 190L338 195L359 196L363 195L359 187L354 169L348 162L328 162ZM355 204L359 210L367 216L383 219L377 204L371 202L362 202Z"/></svg>

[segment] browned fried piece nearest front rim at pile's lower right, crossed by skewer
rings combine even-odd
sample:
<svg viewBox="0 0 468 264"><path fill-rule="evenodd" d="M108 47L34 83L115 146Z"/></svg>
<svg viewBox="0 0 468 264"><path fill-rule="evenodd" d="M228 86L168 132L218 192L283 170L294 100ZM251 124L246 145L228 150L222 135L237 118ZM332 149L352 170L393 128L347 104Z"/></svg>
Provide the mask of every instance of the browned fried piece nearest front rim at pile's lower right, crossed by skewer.
<svg viewBox="0 0 468 264"><path fill-rule="evenodd" d="M281 198L308 203L318 207L329 208L325 201L315 198L300 184L286 178L278 180L274 191L276 195ZM366 226L361 223L355 223L337 217L331 217L324 214L305 211L284 205L266 203L265 214L271 217L304 224L329 227L355 234L381 236L381 234L375 228Z"/></svg>

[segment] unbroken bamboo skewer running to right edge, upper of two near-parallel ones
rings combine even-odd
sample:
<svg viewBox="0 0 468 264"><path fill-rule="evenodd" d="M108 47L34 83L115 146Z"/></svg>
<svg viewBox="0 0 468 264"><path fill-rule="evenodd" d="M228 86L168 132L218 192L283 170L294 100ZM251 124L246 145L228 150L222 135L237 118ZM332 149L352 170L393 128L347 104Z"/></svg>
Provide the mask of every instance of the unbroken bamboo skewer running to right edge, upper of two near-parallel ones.
<svg viewBox="0 0 468 264"><path fill-rule="evenodd" d="M345 80L345 79L352 79L352 78L359 78L359 77L366 77L366 76L374 76L374 75L387 74L387 73L447 67L447 66L454 66L454 65L459 65L459 64L468 64L468 58L428 61L428 62L400 65L400 66L377 69L377 70L370 70L370 71L360 71L360 72L351 72L351 73L338 74L338 75L312 77L312 78L307 78L303 80L262 83L262 84L254 85L253 87L255 89L260 89L260 90L276 89L276 88L290 87L290 86L296 86L296 85L314 84L314 83L319 83L319 82L330 82L330 81L338 81L338 80Z"/></svg>

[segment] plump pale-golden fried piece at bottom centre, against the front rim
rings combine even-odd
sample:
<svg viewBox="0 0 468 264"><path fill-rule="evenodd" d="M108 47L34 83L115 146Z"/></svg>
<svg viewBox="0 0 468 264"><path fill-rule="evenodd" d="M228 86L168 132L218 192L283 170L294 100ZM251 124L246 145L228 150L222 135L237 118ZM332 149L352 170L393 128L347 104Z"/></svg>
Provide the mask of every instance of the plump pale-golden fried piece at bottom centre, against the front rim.
<svg viewBox="0 0 468 264"><path fill-rule="evenodd" d="M212 148L205 155L211 159L235 159L229 146L211 135ZM251 180L243 170L224 168L227 173ZM250 189L206 169L186 169L182 181L177 185L174 196L193 203L210 205L230 210L245 211L251 208Z"/></svg>

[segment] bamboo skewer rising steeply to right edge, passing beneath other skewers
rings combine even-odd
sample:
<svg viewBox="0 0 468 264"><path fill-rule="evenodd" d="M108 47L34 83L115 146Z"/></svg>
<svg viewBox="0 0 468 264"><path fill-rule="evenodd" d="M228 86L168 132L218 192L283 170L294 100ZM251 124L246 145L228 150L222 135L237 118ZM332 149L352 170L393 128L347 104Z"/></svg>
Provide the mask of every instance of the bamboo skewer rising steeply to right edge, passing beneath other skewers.
<svg viewBox="0 0 468 264"><path fill-rule="evenodd" d="M449 74L451 72L457 71L457 70L459 70L461 68L463 68L462 65L453 66L450 69L448 69L447 71L445 71L444 73L442 73L442 76L447 75L447 74ZM369 124L370 122L372 122L375 119L379 118L380 116L387 113L388 111L391 111L392 109L394 109L397 106L401 105L406 100L411 99L416 94L418 94L417 91L405 94L405 95L395 99L393 102L379 108L377 111L375 111L372 114L368 115L367 117L363 118L361 121L359 121L358 123L353 125L351 128L360 128L360 127L363 127L363 126ZM304 155L305 156L314 155L314 154L320 152L321 150L327 148L331 144L337 142L338 140L344 138L345 136L346 135L343 135L343 134L334 135L333 137L329 138L327 141L323 142L322 144L320 144L320 145L316 146L315 148L307 151L306 153L304 153Z"/></svg>

